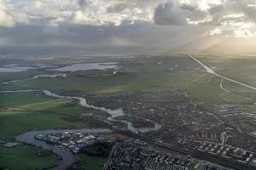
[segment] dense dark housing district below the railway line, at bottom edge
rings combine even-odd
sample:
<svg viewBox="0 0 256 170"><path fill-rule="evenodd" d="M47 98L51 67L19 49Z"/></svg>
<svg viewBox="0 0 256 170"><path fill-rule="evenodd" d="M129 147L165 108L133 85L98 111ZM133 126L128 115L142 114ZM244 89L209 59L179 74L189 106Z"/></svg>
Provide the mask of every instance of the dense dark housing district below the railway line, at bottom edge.
<svg viewBox="0 0 256 170"><path fill-rule="evenodd" d="M152 145L136 139L117 144L109 157L106 169L226 170L224 167L216 167L191 156L155 150Z"/></svg>

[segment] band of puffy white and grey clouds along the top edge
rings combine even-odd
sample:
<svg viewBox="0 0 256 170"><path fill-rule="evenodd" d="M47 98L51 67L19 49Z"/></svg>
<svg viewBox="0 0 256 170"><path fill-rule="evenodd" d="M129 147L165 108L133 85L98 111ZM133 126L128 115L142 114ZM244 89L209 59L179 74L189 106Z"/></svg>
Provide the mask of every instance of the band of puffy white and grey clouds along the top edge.
<svg viewBox="0 0 256 170"><path fill-rule="evenodd" d="M23 3L22 3L23 2ZM165 26L220 26L227 14L244 14L256 23L253 0L0 0L1 26L80 24L119 26L148 21ZM230 19L231 20L231 19Z"/></svg>

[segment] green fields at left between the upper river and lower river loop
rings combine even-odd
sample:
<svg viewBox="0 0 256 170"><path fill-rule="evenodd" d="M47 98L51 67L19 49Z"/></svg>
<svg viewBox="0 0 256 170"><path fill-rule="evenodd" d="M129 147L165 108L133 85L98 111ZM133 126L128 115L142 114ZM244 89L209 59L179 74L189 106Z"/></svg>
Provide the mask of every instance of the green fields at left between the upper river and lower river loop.
<svg viewBox="0 0 256 170"><path fill-rule="evenodd" d="M100 114L80 107L76 101L49 98L41 93L0 94L0 103L8 108L0 110L0 139L11 139L29 129L87 127L82 122L68 122L62 117L87 112Z"/></svg>

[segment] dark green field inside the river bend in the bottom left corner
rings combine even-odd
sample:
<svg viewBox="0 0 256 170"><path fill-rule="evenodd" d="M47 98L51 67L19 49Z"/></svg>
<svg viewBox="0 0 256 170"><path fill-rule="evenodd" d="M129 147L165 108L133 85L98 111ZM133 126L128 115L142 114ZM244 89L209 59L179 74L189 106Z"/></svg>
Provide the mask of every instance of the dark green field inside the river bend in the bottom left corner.
<svg viewBox="0 0 256 170"><path fill-rule="evenodd" d="M57 162L54 154L38 156L38 152L40 150L31 146L17 146L10 149L0 146L0 167L9 170L33 170Z"/></svg>

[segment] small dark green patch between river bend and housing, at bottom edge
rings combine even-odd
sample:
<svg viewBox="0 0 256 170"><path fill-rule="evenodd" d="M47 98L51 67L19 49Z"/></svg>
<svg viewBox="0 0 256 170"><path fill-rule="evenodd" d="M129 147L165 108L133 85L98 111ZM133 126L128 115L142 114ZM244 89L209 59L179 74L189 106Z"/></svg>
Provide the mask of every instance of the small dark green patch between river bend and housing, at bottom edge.
<svg viewBox="0 0 256 170"><path fill-rule="evenodd" d="M102 170L107 158L79 154L78 159L83 165L83 170Z"/></svg>

